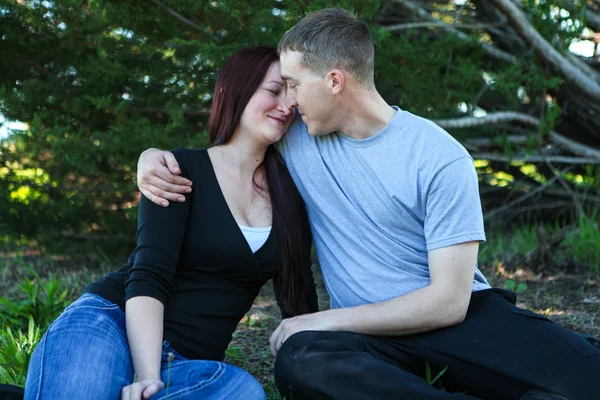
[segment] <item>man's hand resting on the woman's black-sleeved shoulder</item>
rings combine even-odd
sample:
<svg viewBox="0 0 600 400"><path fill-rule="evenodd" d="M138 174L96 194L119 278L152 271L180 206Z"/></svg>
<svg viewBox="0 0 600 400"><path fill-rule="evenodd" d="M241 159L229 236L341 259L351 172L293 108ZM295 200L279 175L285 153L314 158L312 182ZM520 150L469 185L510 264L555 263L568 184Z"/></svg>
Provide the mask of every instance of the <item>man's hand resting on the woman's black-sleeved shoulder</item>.
<svg viewBox="0 0 600 400"><path fill-rule="evenodd" d="M140 155L137 184L140 191L159 206L167 207L170 201L183 203L183 193L192 191L192 181L181 176L179 164L173 153L148 149Z"/></svg>

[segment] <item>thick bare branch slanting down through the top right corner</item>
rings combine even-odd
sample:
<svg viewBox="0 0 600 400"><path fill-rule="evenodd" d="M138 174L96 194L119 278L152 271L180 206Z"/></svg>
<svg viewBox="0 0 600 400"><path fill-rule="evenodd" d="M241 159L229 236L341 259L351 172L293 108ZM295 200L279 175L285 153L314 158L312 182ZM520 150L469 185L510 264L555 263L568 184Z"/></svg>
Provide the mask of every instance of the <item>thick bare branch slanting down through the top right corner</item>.
<svg viewBox="0 0 600 400"><path fill-rule="evenodd" d="M538 57L545 60L565 80L584 93L588 98L600 101L600 84L590 79L550 45L527 20L523 12L510 0L491 0L509 19L521 38L533 48Z"/></svg>

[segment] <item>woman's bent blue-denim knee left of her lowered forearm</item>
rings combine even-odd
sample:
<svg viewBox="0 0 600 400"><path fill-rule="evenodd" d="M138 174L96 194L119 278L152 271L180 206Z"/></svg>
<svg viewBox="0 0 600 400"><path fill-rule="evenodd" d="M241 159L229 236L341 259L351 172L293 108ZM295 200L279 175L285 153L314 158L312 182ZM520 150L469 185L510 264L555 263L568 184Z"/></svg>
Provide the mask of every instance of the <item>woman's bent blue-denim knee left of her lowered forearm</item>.
<svg viewBox="0 0 600 400"><path fill-rule="evenodd" d="M29 363L26 399L54 398L58 388L70 398L106 398L107 391L118 397L131 382L124 328L111 315L114 307L96 303L74 303L44 334Z"/></svg>

